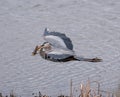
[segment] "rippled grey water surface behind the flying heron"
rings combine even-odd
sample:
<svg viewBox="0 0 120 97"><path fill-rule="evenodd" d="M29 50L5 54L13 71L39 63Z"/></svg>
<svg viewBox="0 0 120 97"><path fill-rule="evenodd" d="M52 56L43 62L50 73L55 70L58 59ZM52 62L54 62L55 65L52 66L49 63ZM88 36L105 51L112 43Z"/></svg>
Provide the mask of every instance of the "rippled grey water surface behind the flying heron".
<svg viewBox="0 0 120 97"><path fill-rule="evenodd" d="M32 56L43 31L65 33L76 55L100 63L55 63ZM69 94L88 80L113 91L120 83L120 0L0 0L0 92L22 97Z"/></svg>

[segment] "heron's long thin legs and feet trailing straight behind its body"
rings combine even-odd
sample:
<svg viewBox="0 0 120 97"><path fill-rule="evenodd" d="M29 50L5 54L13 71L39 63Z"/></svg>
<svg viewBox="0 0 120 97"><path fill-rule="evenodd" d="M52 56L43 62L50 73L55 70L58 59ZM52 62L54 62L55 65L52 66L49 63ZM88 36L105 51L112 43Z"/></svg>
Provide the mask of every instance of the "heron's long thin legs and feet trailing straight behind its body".
<svg viewBox="0 0 120 97"><path fill-rule="evenodd" d="M75 60L78 60L78 61L87 61L87 62L102 62L102 59L100 58L83 58L83 57L74 57Z"/></svg>

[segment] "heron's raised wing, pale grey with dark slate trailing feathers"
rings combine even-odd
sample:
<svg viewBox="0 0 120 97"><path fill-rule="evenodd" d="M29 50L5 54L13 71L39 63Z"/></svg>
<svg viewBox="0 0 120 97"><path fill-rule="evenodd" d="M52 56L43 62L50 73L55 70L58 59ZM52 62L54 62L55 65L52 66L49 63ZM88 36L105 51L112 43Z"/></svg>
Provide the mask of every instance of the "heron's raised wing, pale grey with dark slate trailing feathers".
<svg viewBox="0 0 120 97"><path fill-rule="evenodd" d="M73 44L70 38L60 32L49 32L46 28L44 31L44 39L55 47L73 50Z"/></svg>

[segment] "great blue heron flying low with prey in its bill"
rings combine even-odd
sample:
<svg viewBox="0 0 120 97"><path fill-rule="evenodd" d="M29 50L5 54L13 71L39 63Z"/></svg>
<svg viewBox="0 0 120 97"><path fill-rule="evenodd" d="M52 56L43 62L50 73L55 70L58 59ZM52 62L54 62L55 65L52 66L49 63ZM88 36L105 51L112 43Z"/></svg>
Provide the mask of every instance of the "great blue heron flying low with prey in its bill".
<svg viewBox="0 0 120 97"><path fill-rule="evenodd" d="M39 54L42 58L51 60L54 62L67 62L71 60L100 62L99 58L79 58L76 57L73 51L73 44L70 38L60 32L49 32L47 28L44 31L44 42L40 46L36 46L33 51L33 55Z"/></svg>

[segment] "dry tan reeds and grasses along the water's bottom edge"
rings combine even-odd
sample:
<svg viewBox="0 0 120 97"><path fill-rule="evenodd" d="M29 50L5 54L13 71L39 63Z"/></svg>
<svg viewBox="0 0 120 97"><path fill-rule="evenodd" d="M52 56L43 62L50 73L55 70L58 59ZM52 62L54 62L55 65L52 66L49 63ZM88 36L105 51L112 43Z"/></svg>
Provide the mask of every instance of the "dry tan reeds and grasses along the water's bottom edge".
<svg viewBox="0 0 120 97"><path fill-rule="evenodd" d="M96 83L96 87L92 87L91 84ZM104 91L100 89L100 83L98 81L93 81L90 82L89 80L85 84L80 84L79 90L77 90L78 95L76 96L76 92L74 92L73 89L73 82L72 80L70 81L70 94L69 96L65 96L63 94L58 95L56 97L120 97L120 89L118 88L116 92L109 92L109 91ZM42 94L40 91L36 93L32 93L33 97L51 97L46 94ZM0 93L0 97L17 97L13 91L6 96L3 96L2 93Z"/></svg>

